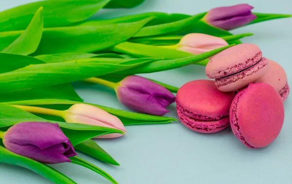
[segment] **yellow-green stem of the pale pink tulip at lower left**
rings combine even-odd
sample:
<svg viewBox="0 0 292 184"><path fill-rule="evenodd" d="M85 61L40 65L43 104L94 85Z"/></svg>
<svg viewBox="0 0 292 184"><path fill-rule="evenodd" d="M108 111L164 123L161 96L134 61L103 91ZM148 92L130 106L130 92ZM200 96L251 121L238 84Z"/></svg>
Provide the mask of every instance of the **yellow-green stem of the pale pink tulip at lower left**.
<svg viewBox="0 0 292 184"><path fill-rule="evenodd" d="M46 114L46 115L59 116L59 117L62 117L64 114L64 111L48 109L48 108L43 108L43 107L26 106L26 105L12 105L12 106L15 106L19 109L25 110L30 113L36 113L36 114Z"/></svg>

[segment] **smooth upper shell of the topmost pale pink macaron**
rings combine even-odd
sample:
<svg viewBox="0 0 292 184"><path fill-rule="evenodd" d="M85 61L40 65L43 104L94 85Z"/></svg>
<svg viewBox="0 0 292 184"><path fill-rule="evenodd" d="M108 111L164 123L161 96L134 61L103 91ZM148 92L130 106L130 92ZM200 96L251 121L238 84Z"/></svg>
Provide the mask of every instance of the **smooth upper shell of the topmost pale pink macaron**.
<svg viewBox="0 0 292 184"><path fill-rule="evenodd" d="M205 72L210 79L219 79L254 65L262 58L259 47L242 43L223 50L208 62Z"/></svg>

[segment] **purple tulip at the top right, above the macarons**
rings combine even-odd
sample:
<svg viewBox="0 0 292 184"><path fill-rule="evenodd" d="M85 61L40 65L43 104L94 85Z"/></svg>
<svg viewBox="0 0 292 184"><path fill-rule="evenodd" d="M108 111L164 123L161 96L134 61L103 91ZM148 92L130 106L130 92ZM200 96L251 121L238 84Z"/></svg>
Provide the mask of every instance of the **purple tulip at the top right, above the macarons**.
<svg viewBox="0 0 292 184"><path fill-rule="evenodd" d="M220 29L231 30L255 20L256 15L251 12L253 8L249 4L213 8L206 14L204 20Z"/></svg>

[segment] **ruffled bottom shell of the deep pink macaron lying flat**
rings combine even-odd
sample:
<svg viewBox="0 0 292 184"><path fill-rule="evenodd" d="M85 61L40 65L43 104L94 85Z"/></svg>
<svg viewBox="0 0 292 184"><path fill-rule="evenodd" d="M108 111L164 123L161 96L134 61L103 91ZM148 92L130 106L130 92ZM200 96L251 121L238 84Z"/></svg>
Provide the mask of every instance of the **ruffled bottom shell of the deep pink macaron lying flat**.
<svg viewBox="0 0 292 184"><path fill-rule="evenodd" d="M229 116L223 117L214 121L202 121L186 116L184 113L178 110L178 116L180 121L187 128L200 132L200 133L215 133L219 132L230 125Z"/></svg>

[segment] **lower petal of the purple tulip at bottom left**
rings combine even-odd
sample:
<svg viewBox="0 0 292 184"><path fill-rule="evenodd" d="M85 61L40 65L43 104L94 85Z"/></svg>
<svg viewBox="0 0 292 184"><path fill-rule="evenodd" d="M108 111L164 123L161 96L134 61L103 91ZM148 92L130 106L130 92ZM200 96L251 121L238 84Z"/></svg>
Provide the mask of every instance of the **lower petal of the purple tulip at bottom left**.
<svg viewBox="0 0 292 184"><path fill-rule="evenodd" d="M41 150L39 147L35 145L18 145L16 143L9 143L6 140L3 141L5 147L10 151L22 155L24 157L31 158L40 163L44 164L58 164L71 162L67 156L64 155L66 151L63 144L55 144L51 147L45 148ZM72 146L72 145L71 145ZM76 156L77 154L72 152L73 147L69 148L67 152L70 150L70 156Z"/></svg>

